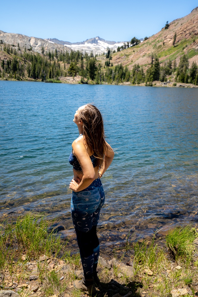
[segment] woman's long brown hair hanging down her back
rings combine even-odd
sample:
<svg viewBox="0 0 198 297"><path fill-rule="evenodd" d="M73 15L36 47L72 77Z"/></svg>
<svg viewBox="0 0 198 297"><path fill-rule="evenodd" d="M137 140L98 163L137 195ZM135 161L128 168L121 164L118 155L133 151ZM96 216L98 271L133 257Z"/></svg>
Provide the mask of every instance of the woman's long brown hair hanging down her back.
<svg viewBox="0 0 198 297"><path fill-rule="evenodd" d="M105 142L104 124L99 109L88 103L80 110L80 119L83 121L83 137L86 145L94 151L96 166L102 168L104 154L108 151Z"/></svg>

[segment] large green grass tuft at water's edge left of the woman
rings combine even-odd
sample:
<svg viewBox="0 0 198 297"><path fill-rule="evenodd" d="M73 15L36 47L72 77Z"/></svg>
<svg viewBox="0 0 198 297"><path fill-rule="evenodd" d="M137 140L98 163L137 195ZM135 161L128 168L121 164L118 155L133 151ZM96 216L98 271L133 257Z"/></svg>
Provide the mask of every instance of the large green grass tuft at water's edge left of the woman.
<svg viewBox="0 0 198 297"><path fill-rule="evenodd" d="M0 270L10 263L12 265L13 258L20 259L23 254L26 254L26 261L31 257L39 259L41 254L49 257L59 255L63 249L60 238L48 232L48 226L49 222L37 214L18 217L10 223L3 222L0 225L3 233L0 236Z"/></svg>

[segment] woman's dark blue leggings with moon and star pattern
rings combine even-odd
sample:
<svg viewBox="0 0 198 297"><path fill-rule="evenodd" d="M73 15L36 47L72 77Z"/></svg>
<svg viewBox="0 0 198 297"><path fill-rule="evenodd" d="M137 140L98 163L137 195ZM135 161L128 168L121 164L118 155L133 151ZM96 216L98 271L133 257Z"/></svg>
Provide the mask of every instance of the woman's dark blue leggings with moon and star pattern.
<svg viewBox="0 0 198 297"><path fill-rule="evenodd" d="M71 213L85 278L96 270L100 245L96 234L100 209L104 205L104 190L100 178L80 192L72 192Z"/></svg>

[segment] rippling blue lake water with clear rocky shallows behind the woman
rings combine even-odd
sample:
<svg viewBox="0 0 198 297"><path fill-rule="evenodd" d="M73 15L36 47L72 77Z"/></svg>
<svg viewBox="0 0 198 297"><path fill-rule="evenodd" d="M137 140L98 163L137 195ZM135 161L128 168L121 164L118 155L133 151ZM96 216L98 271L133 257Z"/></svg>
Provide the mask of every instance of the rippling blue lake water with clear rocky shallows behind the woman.
<svg viewBox="0 0 198 297"><path fill-rule="evenodd" d="M102 177L101 242L197 225L198 89L15 81L0 81L1 221L44 212L72 234L72 120L88 102L116 151Z"/></svg>

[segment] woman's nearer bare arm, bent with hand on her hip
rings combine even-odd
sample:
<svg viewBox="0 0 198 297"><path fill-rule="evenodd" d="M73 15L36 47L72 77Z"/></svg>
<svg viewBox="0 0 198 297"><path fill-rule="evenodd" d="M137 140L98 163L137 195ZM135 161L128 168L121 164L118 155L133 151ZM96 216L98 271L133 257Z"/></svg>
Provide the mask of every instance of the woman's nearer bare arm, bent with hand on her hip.
<svg viewBox="0 0 198 297"><path fill-rule="evenodd" d="M77 138L72 143L72 148L83 171L83 178L78 184L74 179L70 182L69 188L79 192L87 188L95 178L95 171L91 159L83 144L83 137Z"/></svg>

